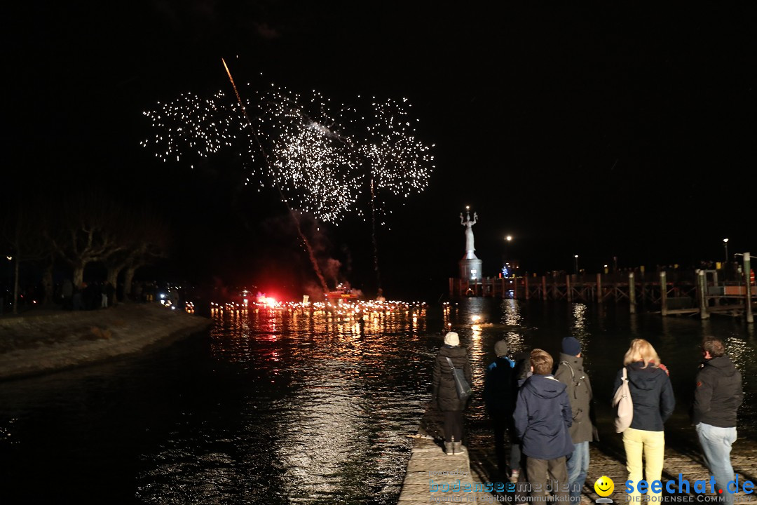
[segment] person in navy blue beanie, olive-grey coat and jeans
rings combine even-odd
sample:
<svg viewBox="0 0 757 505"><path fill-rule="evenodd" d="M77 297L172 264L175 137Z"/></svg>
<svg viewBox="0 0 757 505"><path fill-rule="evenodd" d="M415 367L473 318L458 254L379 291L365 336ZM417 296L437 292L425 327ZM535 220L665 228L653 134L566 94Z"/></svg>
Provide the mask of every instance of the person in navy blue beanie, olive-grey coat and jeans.
<svg viewBox="0 0 757 505"><path fill-rule="evenodd" d="M569 430L573 441L573 454L568 457L567 462L568 482L571 503L580 503L581 490L589 471L589 442L594 430L590 410L593 396L591 382L584 371L584 358L581 356L581 342L578 339L562 339L562 353L555 371L555 379L565 384L573 414Z"/></svg>

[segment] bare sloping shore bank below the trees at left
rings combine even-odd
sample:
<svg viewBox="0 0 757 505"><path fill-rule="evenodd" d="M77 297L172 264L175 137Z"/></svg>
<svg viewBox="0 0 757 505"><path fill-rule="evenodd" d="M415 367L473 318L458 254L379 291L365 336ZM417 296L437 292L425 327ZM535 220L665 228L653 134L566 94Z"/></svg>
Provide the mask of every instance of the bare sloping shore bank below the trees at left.
<svg viewBox="0 0 757 505"><path fill-rule="evenodd" d="M0 319L0 381L137 354L202 332L212 320L157 304Z"/></svg>

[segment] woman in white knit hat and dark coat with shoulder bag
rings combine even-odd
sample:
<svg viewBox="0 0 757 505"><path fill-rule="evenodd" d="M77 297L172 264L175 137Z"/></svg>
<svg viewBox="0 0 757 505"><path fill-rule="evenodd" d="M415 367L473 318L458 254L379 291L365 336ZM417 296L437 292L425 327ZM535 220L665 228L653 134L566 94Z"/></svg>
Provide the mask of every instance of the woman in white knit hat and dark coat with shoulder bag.
<svg viewBox="0 0 757 505"><path fill-rule="evenodd" d="M463 447L463 410L466 403L457 397L455 379L447 361L449 357L455 368L463 369L466 380L472 384L468 351L459 347L459 344L460 339L455 332L447 333L444 336L444 345L439 349L434 362L434 390L431 400L438 402L439 410L444 414L444 452L447 456L463 454L466 451Z"/></svg>

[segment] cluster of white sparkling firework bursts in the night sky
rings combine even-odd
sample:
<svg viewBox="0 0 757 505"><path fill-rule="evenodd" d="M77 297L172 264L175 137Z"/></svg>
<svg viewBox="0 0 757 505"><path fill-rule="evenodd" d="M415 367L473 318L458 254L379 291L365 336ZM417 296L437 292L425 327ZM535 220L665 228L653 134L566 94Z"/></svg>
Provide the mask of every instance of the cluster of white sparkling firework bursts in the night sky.
<svg viewBox="0 0 757 505"><path fill-rule="evenodd" d="M377 216L385 224L388 197L407 198L428 185L433 146L416 138L407 99L373 98L358 110L332 107L317 92L305 97L272 87L251 95L252 103L219 92L159 104L145 112L158 132L142 145L164 161L235 148L250 170L248 183L257 179L260 189L277 189L291 210L336 224L351 213L365 216L363 195L369 195L374 226ZM256 151L265 163L253 163Z"/></svg>

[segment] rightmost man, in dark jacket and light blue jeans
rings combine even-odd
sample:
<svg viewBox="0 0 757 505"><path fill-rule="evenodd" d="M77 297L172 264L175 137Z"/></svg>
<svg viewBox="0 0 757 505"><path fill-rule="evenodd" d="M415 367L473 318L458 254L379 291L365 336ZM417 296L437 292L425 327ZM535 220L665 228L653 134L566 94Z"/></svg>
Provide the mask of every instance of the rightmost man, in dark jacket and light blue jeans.
<svg viewBox="0 0 757 505"><path fill-rule="evenodd" d="M737 438L736 414L743 401L741 373L725 355L719 338L705 338L702 355L705 360L696 374L693 423L707 468L715 476L715 487L722 490L725 503L734 503L726 486L734 480L731 445Z"/></svg>

